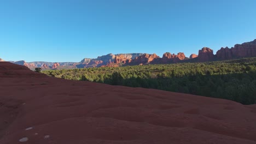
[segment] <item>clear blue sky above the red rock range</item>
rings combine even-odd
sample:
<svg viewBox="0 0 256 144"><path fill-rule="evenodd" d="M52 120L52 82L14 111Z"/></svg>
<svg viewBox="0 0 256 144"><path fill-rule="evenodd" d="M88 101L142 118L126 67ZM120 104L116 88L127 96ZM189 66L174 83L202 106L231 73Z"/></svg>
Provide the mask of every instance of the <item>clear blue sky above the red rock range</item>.
<svg viewBox="0 0 256 144"><path fill-rule="evenodd" d="M256 39L255 0L0 0L0 58L79 62Z"/></svg>

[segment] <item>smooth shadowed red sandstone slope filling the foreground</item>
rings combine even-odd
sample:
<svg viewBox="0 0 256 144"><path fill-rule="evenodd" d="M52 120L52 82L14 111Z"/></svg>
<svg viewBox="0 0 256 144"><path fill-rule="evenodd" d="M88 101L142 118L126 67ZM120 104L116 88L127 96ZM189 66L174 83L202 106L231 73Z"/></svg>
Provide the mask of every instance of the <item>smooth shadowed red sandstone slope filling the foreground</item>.
<svg viewBox="0 0 256 144"><path fill-rule="evenodd" d="M4 62L0 75L1 144L256 143L255 105L56 79Z"/></svg>

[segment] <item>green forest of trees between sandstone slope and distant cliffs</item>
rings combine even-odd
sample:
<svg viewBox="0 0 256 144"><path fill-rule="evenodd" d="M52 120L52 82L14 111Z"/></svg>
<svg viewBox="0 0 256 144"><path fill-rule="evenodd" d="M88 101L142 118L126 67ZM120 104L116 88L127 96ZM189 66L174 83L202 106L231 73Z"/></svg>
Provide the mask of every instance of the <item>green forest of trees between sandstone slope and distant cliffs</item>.
<svg viewBox="0 0 256 144"><path fill-rule="evenodd" d="M256 103L256 57L205 63L45 70L42 73L68 80L229 99L246 105Z"/></svg>

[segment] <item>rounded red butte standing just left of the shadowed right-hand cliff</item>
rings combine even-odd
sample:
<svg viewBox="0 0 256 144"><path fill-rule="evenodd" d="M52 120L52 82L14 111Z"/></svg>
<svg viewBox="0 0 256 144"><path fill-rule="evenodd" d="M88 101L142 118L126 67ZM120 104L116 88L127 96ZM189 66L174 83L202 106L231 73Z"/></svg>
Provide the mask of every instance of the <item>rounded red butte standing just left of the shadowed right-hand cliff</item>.
<svg viewBox="0 0 256 144"><path fill-rule="evenodd" d="M197 58L199 62L212 61L214 58L213 50L208 47L203 47L202 50L199 50Z"/></svg>

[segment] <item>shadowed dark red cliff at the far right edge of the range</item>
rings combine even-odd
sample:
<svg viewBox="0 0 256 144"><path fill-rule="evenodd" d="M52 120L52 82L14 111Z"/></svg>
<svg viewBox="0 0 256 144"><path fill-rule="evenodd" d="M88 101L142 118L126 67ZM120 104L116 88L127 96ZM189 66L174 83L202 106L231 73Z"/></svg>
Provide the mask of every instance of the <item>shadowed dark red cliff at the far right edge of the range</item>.
<svg viewBox="0 0 256 144"><path fill-rule="evenodd" d="M256 39L243 44L236 44L234 47L221 48L216 53L218 60L243 58L243 57L256 57Z"/></svg>

